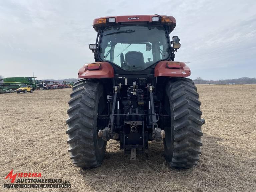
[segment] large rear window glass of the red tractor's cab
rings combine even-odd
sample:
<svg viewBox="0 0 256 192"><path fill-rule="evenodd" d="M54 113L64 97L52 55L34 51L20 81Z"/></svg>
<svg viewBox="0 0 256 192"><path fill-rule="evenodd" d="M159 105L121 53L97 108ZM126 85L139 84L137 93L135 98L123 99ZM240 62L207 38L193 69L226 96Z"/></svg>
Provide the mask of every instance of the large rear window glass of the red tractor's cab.
<svg viewBox="0 0 256 192"><path fill-rule="evenodd" d="M104 30L100 58L125 70L143 70L169 57L169 43L161 26L121 26Z"/></svg>

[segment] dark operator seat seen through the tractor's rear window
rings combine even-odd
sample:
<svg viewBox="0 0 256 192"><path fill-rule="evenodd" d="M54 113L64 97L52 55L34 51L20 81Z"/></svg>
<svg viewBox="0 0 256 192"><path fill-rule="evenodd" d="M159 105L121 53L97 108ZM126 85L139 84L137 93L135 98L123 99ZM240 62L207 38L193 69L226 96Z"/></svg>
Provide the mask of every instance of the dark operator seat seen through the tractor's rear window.
<svg viewBox="0 0 256 192"><path fill-rule="evenodd" d="M124 57L125 69L144 69L145 62L143 54L139 51L129 51Z"/></svg>

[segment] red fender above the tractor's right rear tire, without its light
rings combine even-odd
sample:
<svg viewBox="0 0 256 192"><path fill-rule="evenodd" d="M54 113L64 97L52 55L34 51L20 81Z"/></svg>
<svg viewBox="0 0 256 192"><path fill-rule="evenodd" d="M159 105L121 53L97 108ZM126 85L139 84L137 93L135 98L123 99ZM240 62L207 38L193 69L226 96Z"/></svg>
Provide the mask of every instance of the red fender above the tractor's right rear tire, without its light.
<svg viewBox="0 0 256 192"><path fill-rule="evenodd" d="M167 63L180 64L180 68L168 68ZM154 71L155 77L188 77L191 72L185 63L179 61L160 61Z"/></svg>

